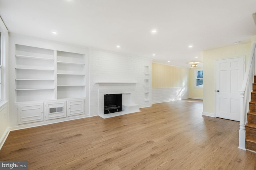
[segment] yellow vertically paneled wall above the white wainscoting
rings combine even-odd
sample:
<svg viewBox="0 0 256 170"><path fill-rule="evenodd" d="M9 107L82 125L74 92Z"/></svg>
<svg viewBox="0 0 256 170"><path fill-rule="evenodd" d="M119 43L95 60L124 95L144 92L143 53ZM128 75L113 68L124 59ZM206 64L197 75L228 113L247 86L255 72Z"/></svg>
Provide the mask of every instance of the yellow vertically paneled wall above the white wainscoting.
<svg viewBox="0 0 256 170"><path fill-rule="evenodd" d="M188 68L152 63L152 88L188 87Z"/></svg>

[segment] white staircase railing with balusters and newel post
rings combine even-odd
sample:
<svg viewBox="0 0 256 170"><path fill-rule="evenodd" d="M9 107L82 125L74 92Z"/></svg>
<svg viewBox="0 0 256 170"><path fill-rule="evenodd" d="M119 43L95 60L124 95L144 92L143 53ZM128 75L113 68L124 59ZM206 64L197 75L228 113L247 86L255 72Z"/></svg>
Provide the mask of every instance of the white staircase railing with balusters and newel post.
<svg viewBox="0 0 256 170"><path fill-rule="evenodd" d="M247 113L250 111L249 102L251 102L252 83L254 83L255 73L255 49L256 41L252 43L252 49L249 61L246 66L244 81L240 92L240 127L239 127L239 149L246 150L246 131Z"/></svg>

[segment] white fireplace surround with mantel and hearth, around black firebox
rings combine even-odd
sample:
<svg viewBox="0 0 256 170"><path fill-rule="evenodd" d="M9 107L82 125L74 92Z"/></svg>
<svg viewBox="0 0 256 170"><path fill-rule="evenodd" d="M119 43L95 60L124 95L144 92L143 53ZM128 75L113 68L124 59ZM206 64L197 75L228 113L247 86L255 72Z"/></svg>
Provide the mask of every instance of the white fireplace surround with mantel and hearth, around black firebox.
<svg viewBox="0 0 256 170"><path fill-rule="evenodd" d="M136 82L98 82L98 113L102 118L114 117L140 111L140 106L135 104ZM104 95L122 94L123 111L104 114Z"/></svg>

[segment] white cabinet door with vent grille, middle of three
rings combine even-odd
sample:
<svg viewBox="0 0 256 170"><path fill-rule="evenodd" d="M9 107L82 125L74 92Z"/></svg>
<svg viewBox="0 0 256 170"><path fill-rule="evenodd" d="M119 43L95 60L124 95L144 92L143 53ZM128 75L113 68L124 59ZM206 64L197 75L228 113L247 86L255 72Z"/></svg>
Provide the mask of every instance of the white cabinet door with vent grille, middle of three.
<svg viewBox="0 0 256 170"><path fill-rule="evenodd" d="M66 117L66 101L45 102L45 119Z"/></svg>

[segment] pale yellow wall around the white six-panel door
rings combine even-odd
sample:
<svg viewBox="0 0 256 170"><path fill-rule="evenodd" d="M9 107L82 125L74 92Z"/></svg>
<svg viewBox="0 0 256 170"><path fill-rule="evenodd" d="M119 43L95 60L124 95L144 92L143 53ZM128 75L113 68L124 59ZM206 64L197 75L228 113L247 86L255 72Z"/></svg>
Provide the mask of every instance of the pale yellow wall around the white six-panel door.
<svg viewBox="0 0 256 170"><path fill-rule="evenodd" d="M203 114L215 115L215 61L233 57L246 57L248 61L251 51L251 42L207 50L204 57L204 102ZM247 62L246 62L247 63Z"/></svg>

